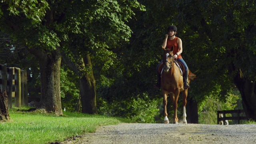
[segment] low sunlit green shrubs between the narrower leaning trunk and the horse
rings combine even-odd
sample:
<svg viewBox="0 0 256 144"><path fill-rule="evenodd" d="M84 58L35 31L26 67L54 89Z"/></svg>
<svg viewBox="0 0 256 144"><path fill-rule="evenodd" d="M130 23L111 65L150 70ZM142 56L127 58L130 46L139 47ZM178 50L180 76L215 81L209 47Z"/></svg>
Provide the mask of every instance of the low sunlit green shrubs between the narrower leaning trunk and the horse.
<svg viewBox="0 0 256 144"><path fill-rule="evenodd" d="M159 100L151 100L146 94L141 98L131 96L126 100L112 100L111 103L104 95L97 94L98 114L120 116L138 123L156 123L158 104Z"/></svg>

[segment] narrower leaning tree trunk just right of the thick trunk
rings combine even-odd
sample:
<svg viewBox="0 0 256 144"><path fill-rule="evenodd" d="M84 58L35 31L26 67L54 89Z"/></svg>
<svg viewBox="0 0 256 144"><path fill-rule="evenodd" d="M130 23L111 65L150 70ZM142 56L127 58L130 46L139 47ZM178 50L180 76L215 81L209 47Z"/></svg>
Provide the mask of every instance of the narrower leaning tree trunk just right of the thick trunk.
<svg viewBox="0 0 256 144"><path fill-rule="evenodd" d="M83 58L83 61L85 65L88 65L92 68L89 54ZM80 78L80 94L82 112L87 114L97 114L95 79L92 69L90 70L89 74L86 74Z"/></svg>

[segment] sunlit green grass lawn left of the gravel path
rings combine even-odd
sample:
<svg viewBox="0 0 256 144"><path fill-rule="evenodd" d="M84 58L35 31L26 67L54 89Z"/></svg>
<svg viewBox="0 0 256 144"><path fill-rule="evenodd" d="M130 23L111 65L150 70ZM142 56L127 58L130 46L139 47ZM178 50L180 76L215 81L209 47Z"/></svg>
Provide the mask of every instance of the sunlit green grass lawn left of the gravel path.
<svg viewBox="0 0 256 144"><path fill-rule="evenodd" d="M28 108L23 108L28 109ZM63 116L9 110L11 120L0 122L0 144L47 144L94 132L98 126L129 122L122 118L64 112Z"/></svg>

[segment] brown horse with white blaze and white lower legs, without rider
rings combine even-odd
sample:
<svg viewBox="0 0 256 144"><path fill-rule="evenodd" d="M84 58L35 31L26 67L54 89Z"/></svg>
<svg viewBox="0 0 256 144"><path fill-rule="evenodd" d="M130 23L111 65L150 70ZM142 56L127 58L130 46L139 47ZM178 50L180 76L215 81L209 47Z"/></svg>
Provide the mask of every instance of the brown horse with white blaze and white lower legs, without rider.
<svg viewBox="0 0 256 144"><path fill-rule="evenodd" d="M164 68L161 74L161 88L163 94L163 105L164 105L164 123L168 124L169 120L167 118L167 96L170 95L172 100L172 106L174 108L173 123L178 124L177 117L177 107L178 107L178 97L180 92L182 92L182 104L183 104L183 120L184 124L187 123L186 120L186 98L188 96L188 89L183 88L183 76L181 75L180 68L174 62L174 54L172 52L173 46L171 49L164 49L163 55L163 65ZM190 80L193 80L196 75L192 72L188 72L188 83Z"/></svg>

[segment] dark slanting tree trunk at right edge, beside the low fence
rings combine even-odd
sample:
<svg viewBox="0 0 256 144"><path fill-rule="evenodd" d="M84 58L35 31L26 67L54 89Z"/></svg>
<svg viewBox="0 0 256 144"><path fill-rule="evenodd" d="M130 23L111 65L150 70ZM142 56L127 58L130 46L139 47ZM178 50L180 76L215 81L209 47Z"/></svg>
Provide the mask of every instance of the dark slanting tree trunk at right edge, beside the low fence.
<svg viewBox="0 0 256 144"><path fill-rule="evenodd" d="M234 82L241 93L242 105L247 119L256 121L256 84L252 80L246 79L242 71L234 78Z"/></svg>

